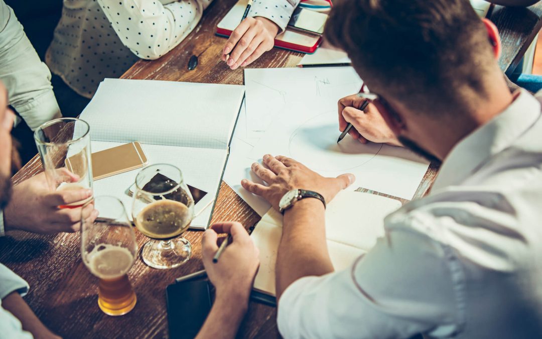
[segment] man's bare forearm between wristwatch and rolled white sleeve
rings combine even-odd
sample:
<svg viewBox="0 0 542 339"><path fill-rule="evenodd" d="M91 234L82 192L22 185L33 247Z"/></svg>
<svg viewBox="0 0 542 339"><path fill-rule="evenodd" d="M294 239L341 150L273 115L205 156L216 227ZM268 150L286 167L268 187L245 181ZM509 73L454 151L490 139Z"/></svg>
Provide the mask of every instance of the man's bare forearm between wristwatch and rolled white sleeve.
<svg viewBox="0 0 542 339"><path fill-rule="evenodd" d="M327 251L324 205L303 199L286 210L276 260L276 296L295 280L333 271Z"/></svg>

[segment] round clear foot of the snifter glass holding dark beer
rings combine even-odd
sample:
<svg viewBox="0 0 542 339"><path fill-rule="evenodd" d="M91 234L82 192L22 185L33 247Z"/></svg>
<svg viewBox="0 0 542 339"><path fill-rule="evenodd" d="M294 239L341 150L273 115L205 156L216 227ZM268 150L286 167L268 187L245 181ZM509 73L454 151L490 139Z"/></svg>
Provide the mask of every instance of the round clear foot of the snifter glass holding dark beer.
<svg viewBox="0 0 542 339"><path fill-rule="evenodd" d="M183 265L192 255L192 245L182 236L171 240L150 240L143 246L141 257L145 264L167 270Z"/></svg>

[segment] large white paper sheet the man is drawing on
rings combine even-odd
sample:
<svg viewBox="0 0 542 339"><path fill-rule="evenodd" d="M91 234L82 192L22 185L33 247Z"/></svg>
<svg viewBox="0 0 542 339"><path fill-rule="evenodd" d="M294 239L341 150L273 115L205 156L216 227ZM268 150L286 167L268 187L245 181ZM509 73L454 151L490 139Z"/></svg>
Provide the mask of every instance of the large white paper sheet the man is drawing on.
<svg viewBox="0 0 542 339"><path fill-rule="evenodd" d="M337 101L357 93L361 84L351 67L247 69L245 82L248 135L251 124L273 121L256 134L260 140L249 159L284 155L324 176L353 173L357 180L351 190L412 199L429 162L404 148L363 145L350 136L337 144ZM279 103L273 96L277 88L285 93Z"/></svg>

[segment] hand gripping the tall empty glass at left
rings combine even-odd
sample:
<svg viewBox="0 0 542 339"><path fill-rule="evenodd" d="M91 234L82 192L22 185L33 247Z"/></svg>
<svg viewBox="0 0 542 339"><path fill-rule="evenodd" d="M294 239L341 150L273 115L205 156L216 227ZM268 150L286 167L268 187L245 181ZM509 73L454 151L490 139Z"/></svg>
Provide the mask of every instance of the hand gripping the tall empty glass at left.
<svg viewBox="0 0 542 339"><path fill-rule="evenodd" d="M62 175L72 182L78 176L66 169L59 169ZM76 232L81 227L83 218L94 221L98 211L93 204L81 208L59 208L59 205L70 204L92 196L89 189L65 190L50 192L44 172L37 174L13 188L11 201L4 209L5 229L54 234L59 232Z"/></svg>

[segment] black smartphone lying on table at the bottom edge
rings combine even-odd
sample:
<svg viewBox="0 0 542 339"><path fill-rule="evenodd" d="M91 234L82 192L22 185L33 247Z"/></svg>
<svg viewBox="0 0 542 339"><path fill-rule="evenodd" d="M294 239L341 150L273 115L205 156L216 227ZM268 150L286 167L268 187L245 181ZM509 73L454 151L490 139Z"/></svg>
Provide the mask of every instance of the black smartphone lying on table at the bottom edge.
<svg viewBox="0 0 542 339"><path fill-rule="evenodd" d="M192 339L211 310L211 292L207 280L191 280L167 286L167 323L170 338Z"/></svg>

